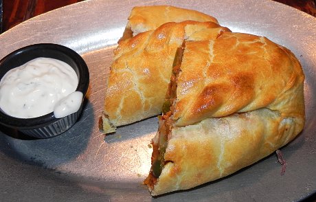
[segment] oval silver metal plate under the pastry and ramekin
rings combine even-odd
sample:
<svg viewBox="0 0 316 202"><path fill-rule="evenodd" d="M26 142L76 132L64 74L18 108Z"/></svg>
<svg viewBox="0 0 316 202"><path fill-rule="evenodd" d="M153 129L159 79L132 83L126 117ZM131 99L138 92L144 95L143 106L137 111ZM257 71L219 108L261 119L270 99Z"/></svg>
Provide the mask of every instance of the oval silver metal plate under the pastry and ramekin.
<svg viewBox="0 0 316 202"><path fill-rule="evenodd" d="M275 155L234 175L188 191L152 198L142 181L150 168L153 117L106 136L98 131L113 48L134 5L168 4L215 16L234 32L267 36L291 49L306 74L306 126ZM67 133L31 139L0 128L0 201L297 201L316 192L316 19L273 1L82 1L48 12L0 35L0 58L34 43L58 43L89 66L89 99Z"/></svg>

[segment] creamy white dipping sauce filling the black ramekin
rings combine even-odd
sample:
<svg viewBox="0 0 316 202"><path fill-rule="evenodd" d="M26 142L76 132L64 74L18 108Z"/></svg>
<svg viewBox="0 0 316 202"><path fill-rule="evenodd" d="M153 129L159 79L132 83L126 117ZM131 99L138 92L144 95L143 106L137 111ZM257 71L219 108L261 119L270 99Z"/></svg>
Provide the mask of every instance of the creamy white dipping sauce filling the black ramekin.
<svg viewBox="0 0 316 202"><path fill-rule="evenodd" d="M53 58L36 58L3 76L0 108L14 117L45 115L54 111L59 100L76 91L77 85L78 76L67 63ZM76 102L81 104L82 99Z"/></svg>

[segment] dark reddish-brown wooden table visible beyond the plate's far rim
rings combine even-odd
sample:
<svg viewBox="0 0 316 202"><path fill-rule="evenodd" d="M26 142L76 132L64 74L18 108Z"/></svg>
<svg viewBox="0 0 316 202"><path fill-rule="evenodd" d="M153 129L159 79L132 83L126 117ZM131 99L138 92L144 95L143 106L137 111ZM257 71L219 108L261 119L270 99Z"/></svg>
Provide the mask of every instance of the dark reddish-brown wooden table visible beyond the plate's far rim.
<svg viewBox="0 0 316 202"><path fill-rule="evenodd" d="M1 1L1 0L0 0ZM2 31L38 14L84 0L3 0ZM275 0L316 16L316 0ZM0 31L1 32L1 31Z"/></svg>

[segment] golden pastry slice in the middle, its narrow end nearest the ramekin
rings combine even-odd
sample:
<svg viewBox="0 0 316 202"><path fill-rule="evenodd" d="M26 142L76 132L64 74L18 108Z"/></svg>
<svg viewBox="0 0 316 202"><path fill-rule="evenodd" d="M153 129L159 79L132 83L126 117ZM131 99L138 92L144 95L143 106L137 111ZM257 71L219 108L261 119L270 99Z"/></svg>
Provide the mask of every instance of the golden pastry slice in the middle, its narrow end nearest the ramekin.
<svg viewBox="0 0 316 202"><path fill-rule="evenodd" d="M104 133L161 113L177 48L184 40L212 40L225 31L214 22L171 22L120 41L107 80Z"/></svg>

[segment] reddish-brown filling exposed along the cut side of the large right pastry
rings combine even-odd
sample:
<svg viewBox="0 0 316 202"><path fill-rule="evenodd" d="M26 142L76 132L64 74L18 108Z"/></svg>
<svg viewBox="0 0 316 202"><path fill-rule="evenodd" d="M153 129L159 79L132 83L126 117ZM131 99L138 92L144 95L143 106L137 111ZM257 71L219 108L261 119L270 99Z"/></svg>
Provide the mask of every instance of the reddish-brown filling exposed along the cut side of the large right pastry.
<svg viewBox="0 0 316 202"><path fill-rule="evenodd" d="M163 166L165 166L168 162L166 162L163 158L168 139L171 135L172 131L172 123L173 120L170 118L172 115L172 104L177 98L177 76L180 72L181 60L183 56L183 46L177 49L176 55L174 56L174 62L172 65L172 76L170 78L170 84L168 87L168 91L166 94L166 101L162 106L162 115L158 117L159 119L159 130L158 134L153 139L153 155L152 155L152 166L150 168L150 173L145 179L144 183L150 186L153 189L153 186L157 182Z"/></svg>

